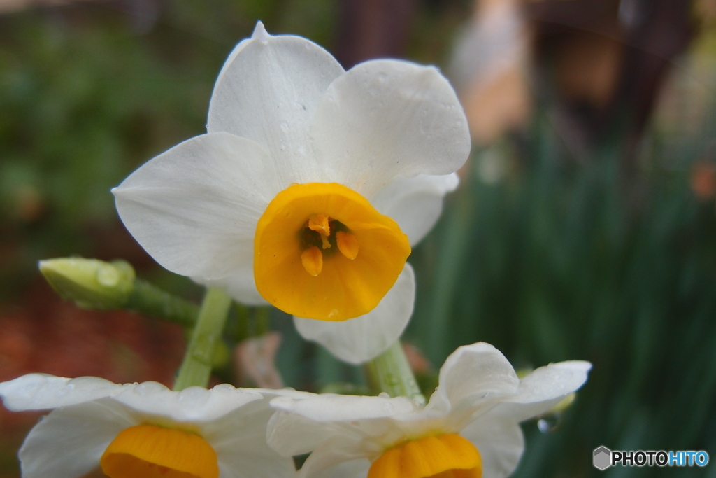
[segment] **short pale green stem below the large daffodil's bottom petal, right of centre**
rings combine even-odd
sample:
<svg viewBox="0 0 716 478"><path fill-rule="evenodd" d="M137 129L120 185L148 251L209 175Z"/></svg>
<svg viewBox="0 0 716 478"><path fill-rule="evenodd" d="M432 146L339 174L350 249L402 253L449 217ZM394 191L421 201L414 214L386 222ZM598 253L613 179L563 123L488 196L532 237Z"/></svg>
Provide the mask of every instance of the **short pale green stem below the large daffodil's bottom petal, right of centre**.
<svg viewBox="0 0 716 478"><path fill-rule="evenodd" d="M417 386L415 376L407 363L400 340L365 365L368 381L375 388L392 397L406 396L425 403L425 396Z"/></svg>

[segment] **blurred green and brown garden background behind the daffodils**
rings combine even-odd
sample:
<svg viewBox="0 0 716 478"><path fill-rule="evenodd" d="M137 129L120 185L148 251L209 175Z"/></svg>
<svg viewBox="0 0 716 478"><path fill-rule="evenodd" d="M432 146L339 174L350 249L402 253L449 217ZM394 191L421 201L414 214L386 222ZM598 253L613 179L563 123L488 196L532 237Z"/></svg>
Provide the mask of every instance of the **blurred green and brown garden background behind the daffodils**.
<svg viewBox="0 0 716 478"><path fill-rule="evenodd" d="M524 424L515 476L716 477L591 464L600 445L716 459L715 0L0 0L0 381L171 384L183 330L62 302L37 261L127 259L200 299L135 244L109 191L205 132L218 71L258 19L346 68L437 64L465 105L473 153L410 258L405 340L425 390L478 340L518 368L590 360L570 408ZM362 384L280 312L269 322L284 383ZM225 355L216 380L251 385L245 355ZM19 476L37 417L0 408L0 477Z"/></svg>

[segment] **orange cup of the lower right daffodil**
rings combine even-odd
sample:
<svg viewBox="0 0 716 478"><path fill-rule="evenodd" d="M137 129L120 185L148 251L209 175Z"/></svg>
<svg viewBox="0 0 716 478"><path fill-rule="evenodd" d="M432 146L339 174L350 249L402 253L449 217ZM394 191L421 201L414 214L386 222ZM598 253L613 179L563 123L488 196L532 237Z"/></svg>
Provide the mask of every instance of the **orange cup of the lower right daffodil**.
<svg viewBox="0 0 716 478"><path fill-rule="evenodd" d="M384 451L368 478L481 478L480 451L463 436L444 434L406 441Z"/></svg>

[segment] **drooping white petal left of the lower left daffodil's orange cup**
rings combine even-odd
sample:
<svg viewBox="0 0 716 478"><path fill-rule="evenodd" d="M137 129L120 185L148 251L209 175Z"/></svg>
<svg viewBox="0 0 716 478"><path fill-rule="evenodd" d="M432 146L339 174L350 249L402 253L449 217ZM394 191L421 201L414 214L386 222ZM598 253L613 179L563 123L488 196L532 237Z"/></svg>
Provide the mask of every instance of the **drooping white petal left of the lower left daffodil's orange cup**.
<svg viewBox="0 0 716 478"><path fill-rule="evenodd" d="M115 436L139 422L111 398L58 408L30 431L19 451L24 478L77 478L99 467Z"/></svg>

